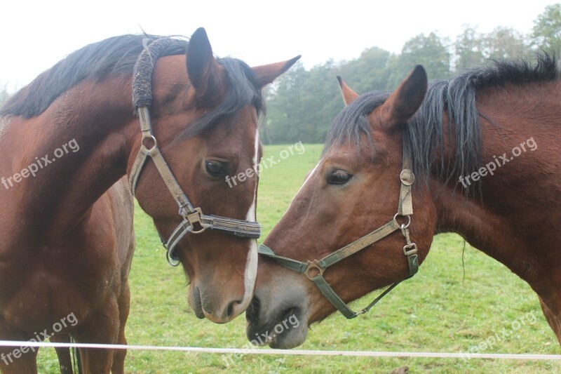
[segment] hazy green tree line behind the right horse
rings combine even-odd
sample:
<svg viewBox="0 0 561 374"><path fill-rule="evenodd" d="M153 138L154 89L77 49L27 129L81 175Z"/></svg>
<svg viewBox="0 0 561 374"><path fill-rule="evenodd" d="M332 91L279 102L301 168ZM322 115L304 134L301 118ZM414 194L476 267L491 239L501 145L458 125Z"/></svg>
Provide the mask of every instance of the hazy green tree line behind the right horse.
<svg viewBox="0 0 561 374"><path fill-rule="evenodd" d="M261 123L262 140L323 142L343 107L337 75L358 93L394 90L417 64L424 66L429 79L448 79L493 60L532 59L539 50L560 55L561 4L547 6L529 34L509 27L481 33L477 27L464 25L454 41L436 32L419 34L405 42L399 54L373 46L354 60L328 60L311 69L297 63L264 93L267 116Z"/></svg>

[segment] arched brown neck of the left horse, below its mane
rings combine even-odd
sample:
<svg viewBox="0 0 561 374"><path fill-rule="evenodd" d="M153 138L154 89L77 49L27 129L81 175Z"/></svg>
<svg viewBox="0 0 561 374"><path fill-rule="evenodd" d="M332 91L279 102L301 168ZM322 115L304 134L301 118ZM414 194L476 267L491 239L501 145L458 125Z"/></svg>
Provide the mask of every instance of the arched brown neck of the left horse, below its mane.
<svg viewBox="0 0 561 374"><path fill-rule="evenodd" d="M0 140L0 172L12 178L0 186L11 217L3 227L21 217L24 234L56 238L88 217L95 201L126 173L132 140L140 133L134 131L131 95L130 78L84 81L41 115L11 119ZM32 164L39 166L35 176L15 182L17 173L36 168Z"/></svg>

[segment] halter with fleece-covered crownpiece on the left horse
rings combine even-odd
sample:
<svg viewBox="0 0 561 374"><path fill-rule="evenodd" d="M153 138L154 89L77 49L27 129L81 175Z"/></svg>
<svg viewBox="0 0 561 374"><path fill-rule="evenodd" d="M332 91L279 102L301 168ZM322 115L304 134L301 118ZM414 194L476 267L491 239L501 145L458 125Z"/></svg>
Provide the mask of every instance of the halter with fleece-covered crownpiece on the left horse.
<svg viewBox="0 0 561 374"><path fill-rule="evenodd" d="M261 236L261 225L258 222L250 222L246 220L237 220L234 218L221 217L219 215L205 215L201 208L194 208L191 201L187 198L187 195L183 192L180 184L175 179L168 163L165 162L163 155L158 148L158 142L154 137L152 132L152 126L150 123L150 115L148 107L151 104L151 92L150 95L145 95L144 93L138 93L138 91L143 91L144 87L138 88L139 85L142 86L137 81L148 82L151 79L151 71L149 72L149 78L147 79L146 74L136 74L140 69L137 66L140 65L143 59L149 59L152 63L152 69L154 67L154 60L158 58L159 53L165 49L165 46L169 44L170 38L162 38L153 41L151 44L144 48L144 51L140 53L138 60L135 65L135 74L133 78L133 101L135 108L140 119L140 130L142 131L142 140L140 144L140 150L136 156L133 163L133 168L130 171L129 183L130 191L135 194L135 189L137 182L140 178L142 172L142 167L147 163L149 158L154 161L154 165L158 169L158 172L165 182L165 185L170 190L170 193L175 199L175 202L179 206L179 215L183 218L182 222L177 225L177 228L173 231L167 241L162 240L163 246L168 250L167 258L168 262L172 266L180 265L180 260L174 252L175 246L181 241L181 239L188 233L200 234L205 231L205 229L215 229L226 234L231 234L234 236L240 236L243 238L253 238L257 239ZM162 47L163 46L163 47ZM152 48L155 47L155 48ZM156 51L156 52L155 52ZM151 147L147 147L147 143L151 142Z"/></svg>

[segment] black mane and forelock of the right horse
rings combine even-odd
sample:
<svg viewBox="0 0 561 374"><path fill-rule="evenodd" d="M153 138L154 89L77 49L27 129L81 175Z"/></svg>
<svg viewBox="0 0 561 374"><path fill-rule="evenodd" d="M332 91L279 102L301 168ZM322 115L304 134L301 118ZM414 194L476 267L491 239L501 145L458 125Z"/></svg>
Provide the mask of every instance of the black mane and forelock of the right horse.
<svg viewBox="0 0 561 374"><path fill-rule="evenodd" d="M428 180L433 166L437 166L438 177L442 179L444 175L448 175L448 181L458 175L468 175L478 170L481 145L479 117L482 114L475 107L476 91L505 84L522 85L555 81L559 78L560 69L557 67L555 55L541 53L537 56L536 64L527 60L494 61L494 65L468 70L450 81L431 81L423 105L405 126L404 131L405 147L412 155L414 173ZM358 146L364 134L375 151L367 116L382 105L389 94L372 91L360 95L347 105L334 119L323 152L345 140ZM449 132L450 137L447 141L457 152L454 159L450 160L445 160L443 154L444 112L454 123L454 131Z"/></svg>

